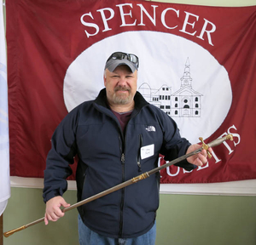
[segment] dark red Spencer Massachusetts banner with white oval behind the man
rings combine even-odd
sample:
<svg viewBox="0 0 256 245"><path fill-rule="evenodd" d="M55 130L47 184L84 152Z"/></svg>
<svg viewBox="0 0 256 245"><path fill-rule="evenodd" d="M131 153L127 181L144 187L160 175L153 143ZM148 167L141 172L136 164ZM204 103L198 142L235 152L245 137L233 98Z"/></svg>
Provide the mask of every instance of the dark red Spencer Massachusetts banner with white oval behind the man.
<svg viewBox="0 0 256 245"><path fill-rule="evenodd" d="M234 136L201 168L162 170L161 183L256 179L255 40L256 6L9 0L11 175L44 176L56 126L96 98L108 56L124 51L140 59L137 90L183 137Z"/></svg>

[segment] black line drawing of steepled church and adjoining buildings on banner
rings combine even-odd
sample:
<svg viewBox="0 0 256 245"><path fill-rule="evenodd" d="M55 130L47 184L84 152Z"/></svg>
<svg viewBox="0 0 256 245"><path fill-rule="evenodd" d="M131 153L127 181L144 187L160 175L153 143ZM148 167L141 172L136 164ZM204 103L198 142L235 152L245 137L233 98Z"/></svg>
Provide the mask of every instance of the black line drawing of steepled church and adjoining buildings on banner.
<svg viewBox="0 0 256 245"><path fill-rule="evenodd" d="M189 58L186 61L180 88L172 94L172 87L163 84L159 89L143 83L138 91L148 103L156 105L171 117L201 117L201 96L192 88Z"/></svg>

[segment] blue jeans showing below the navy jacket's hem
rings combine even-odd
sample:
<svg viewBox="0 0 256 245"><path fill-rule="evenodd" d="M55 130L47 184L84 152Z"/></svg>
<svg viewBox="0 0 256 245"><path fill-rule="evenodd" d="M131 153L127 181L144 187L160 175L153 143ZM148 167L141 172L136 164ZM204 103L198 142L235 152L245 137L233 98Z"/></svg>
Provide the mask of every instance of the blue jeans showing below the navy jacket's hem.
<svg viewBox="0 0 256 245"><path fill-rule="evenodd" d="M79 243L80 245L154 245L156 236L156 225L142 236L133 238L105 237L91 231L79 215Z"/></svg>

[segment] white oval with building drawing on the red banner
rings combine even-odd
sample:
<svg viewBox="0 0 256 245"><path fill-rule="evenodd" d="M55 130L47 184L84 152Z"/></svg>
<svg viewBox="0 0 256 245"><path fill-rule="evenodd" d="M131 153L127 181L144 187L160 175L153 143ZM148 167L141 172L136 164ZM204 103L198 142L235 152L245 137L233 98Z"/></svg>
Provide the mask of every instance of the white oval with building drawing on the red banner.
<svg viewBox="0 0 256 245"><path fill-rule="evenodd" d="M139 57L138 88L149 103L172 117L191 143L207 139L224 122L232 102L228 72L207 49L156 31L128 31L94 43L73 60L64 78L67 111L96 99L103 70L116 51Z"/></svg>

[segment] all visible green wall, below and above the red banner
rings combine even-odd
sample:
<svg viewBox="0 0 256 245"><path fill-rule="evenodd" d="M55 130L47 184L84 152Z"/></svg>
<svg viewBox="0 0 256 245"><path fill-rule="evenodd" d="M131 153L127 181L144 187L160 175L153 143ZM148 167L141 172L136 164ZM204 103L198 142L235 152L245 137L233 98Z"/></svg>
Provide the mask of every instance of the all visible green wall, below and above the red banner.
<svg viewBox="0 0 256 245"><path fill-rule="evenodd" d="M9 0L7 0L9 1ZM171 1L157 1L169 2ZM249 6L256 0L183 0L209 6ZM44 217L42 190L12 187L3 213L3 231L10 231ZM67 202L76 202L76 191L67 191ZM256 197L160 195L157 215L157 245L255 245ZM56 223L33 225L8 238L3 245L79 244L77 210ZM142 244L143 245L143 244Z"/></svg>

